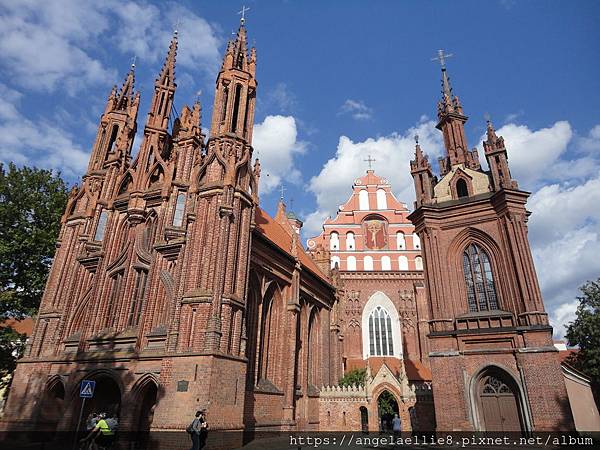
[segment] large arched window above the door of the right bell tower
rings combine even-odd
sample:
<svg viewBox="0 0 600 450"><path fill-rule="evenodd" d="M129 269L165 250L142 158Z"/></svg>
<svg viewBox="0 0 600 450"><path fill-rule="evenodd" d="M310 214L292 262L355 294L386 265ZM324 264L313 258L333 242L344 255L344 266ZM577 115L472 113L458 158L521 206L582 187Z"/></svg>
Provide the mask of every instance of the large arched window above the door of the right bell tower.
<svg viewBox="0 0 600 450"><path fill-rule="evenodd" d="M463 270L467 285L469 311L498 309L498 297L488 254L477 244L469 245L463 253Z"/></svg>

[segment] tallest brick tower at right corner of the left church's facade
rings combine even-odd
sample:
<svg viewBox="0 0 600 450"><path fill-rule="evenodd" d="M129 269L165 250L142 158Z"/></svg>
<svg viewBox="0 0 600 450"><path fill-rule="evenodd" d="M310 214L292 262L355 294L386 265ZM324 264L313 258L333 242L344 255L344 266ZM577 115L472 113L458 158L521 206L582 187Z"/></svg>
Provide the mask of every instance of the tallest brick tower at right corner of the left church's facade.
<svg viewBox="0 0 600 450"><path fill-rule="evenodd" d="M173 360L174 379L202 380L185 404L208 408L211 426L221 429L243 426L243 318L260 170L251 146L255 74L256 51L248 52L242 20L217 76L210 138L193 163L182 300L169 341L170 350L190 355L187 362ZM183 397L164 399L170 405L163 410L178 408Z"/></svg>

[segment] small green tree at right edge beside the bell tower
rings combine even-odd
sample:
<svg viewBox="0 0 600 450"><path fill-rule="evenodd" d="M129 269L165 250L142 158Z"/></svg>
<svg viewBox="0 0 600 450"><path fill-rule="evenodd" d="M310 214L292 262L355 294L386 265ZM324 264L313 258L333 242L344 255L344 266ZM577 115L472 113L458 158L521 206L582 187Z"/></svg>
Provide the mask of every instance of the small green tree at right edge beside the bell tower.
<svg viewBox="0 0 600 450"><path fill-rule="evenodd" d="M576 318L567 327L566 338L571 346L578 346L570 363L592 379L597 394L600 387L600 278L588 281L579 288ZM598 398L598 396L596 396Z"/></svg>

